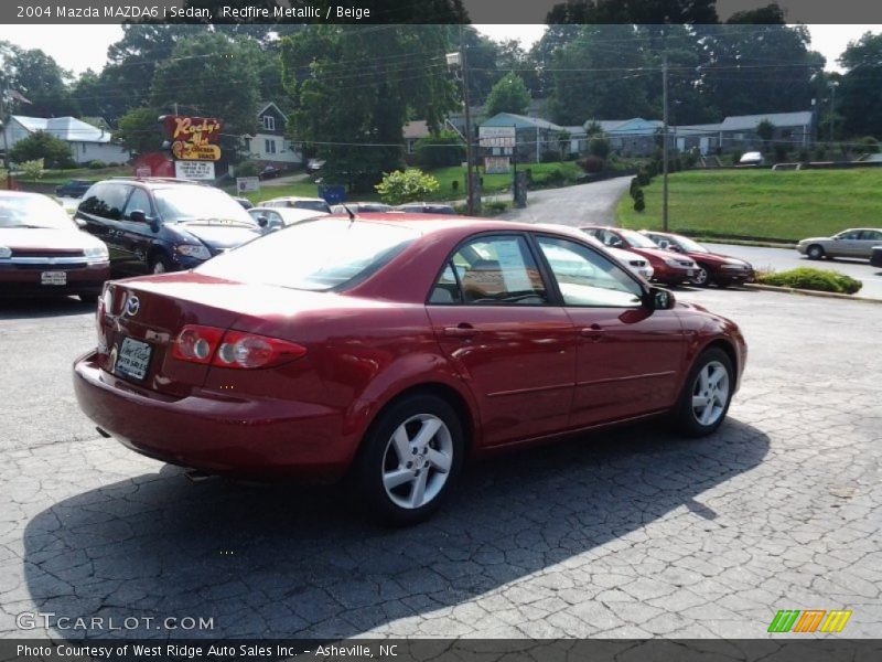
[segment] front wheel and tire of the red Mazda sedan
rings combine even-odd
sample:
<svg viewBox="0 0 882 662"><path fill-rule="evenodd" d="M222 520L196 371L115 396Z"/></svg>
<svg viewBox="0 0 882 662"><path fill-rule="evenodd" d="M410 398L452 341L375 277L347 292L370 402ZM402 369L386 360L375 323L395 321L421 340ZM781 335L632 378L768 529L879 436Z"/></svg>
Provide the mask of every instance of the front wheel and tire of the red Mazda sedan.
<svg viewBox="0 0 882 662"><path fill-rule="evenodd" d="M735 373L729 354L719 348L701 352L674 408L677 429L690 437L713 433L725 419L734 387Z"/></svg>

